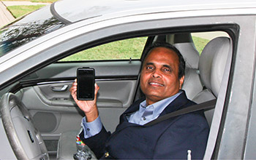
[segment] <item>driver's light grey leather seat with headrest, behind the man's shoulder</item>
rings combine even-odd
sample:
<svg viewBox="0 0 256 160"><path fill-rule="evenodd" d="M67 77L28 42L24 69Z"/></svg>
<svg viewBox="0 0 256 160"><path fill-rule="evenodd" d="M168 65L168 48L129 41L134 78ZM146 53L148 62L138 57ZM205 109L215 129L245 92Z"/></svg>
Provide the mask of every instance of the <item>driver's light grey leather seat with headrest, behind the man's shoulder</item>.
<svg viewBox="0 0 256 160"><path fill-rule="evenodd" d="M227 37L218 37L208 42L199 60L200 79L206 89L199 92L192 100L203 103L218 97L227 57L232 52L232 44ZM206 119L211 125L214 110L206 111Z"/></svg>

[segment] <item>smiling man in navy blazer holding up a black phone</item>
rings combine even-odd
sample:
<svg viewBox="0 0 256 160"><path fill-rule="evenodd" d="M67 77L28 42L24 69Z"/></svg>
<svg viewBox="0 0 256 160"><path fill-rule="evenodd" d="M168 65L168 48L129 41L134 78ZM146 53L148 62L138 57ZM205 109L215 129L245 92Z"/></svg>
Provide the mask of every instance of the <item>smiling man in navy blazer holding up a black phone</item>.
<svg viewBox="0 0 256 160"><path fill-rule="evenodd" d="M148 49L140 75L140 89L146 96L120 116L113 134L102 126L96 99L78 101L76 82L71 95L86 114L80 138L102 159L203 159L208 124L203 111L187 113L145 127L143 124L167 113L194 105L181 86L185 62L170 44L157 43ZM99 87L95 84L95 97Z"/></svg>

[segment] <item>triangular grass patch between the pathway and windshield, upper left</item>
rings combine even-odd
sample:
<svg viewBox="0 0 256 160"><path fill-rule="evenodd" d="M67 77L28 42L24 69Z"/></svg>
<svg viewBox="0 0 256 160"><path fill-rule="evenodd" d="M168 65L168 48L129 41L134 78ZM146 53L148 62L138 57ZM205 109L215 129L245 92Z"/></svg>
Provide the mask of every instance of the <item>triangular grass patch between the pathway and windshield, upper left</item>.
<svg viewBox="0 0 256 160"><path fill-rule="evenodd" d="M29 12L33 12L34 10L37 10L39 8L44 7L45 5L31 5L31 6L10 6L7 7L7 9L10 10L12 15L17 18L23 15L28 14Z"/></svg>

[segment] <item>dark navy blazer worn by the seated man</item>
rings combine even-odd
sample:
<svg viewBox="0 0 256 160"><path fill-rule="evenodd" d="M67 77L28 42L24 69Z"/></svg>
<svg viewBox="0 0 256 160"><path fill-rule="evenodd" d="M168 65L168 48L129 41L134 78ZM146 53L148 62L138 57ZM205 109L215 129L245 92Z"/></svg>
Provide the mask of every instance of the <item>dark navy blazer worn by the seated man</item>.
<svg viewBox="0 0 256 160"><path fill-rule="evenodd" d="M187 113L144 127L127 121L126 116L138 111L143 100L138 100L120 116L120 123L113 134L104 127L99 134L83 138L98 159L203 159L209 127L203 111ZM195 105L183 91L160 116ZM105 157L105 155L107 157ZM109 156L108 156L109 155Z"/></svg>

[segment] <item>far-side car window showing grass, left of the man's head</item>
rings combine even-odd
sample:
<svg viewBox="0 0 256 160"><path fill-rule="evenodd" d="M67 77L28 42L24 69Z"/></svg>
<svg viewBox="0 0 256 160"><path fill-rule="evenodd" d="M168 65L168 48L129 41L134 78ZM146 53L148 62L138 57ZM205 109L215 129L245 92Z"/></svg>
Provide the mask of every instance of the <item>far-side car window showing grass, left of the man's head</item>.
<svg viewBox="0 0 256 160"><path fill-rule="evenodd" d="M129 60L140 59L146 44L147 37L137 37L113 41L97 47L83 50L69 57L65 57L60 62L86 61L86 60Z"/></svg>

